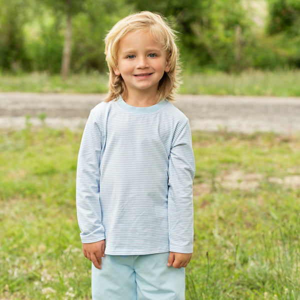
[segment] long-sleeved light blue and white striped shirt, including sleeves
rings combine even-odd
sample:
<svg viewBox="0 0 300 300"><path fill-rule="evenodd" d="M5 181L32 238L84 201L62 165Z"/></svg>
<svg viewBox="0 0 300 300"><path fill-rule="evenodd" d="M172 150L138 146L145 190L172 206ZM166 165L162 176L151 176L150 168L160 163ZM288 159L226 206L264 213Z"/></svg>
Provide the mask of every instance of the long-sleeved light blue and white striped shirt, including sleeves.
<svg viewBox="0 0 300 300"><path fill-rule="evenodd" d="M105 239L111 255L191 253L194 172L188 119L172 103L99 103L78 154L81 241Z"/></svg>

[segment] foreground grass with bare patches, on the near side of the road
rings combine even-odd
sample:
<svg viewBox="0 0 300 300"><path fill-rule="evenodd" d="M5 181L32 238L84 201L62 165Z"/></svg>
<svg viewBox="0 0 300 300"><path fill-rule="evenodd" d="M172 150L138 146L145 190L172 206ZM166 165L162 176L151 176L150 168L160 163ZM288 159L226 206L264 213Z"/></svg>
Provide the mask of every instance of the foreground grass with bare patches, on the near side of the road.
<svg viewBox="0 0 300 300"><path fill-rule="evenodd" d="M90 298L75 211L80 137L0 131L1 300ZM193 132L187 300L300 299L299 137Z"/></svg>

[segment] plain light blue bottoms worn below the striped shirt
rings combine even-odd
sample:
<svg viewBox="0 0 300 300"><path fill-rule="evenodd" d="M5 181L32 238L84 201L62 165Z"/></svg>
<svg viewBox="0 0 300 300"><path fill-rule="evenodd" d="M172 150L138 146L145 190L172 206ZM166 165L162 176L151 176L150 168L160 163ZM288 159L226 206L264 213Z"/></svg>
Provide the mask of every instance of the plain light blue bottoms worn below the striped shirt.
<svg viewBox="0 0 300 300"><path fill-rule="evenodd" d="M167 266L169 253L105 255L92 264L93 300L184 300L184 268Z"/></svg>

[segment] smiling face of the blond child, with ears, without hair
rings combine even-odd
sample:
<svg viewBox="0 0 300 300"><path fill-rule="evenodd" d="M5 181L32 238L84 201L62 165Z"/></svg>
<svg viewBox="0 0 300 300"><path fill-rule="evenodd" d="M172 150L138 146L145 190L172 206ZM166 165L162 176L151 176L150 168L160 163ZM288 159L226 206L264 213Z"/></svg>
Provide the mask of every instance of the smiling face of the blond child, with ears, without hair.
<svg viewBox="0 0 300 300"><path fill-rule="evenodd" d="M156 95L159 80L169 69L166 51L148 31L129 32L120 39L113 70L122 76L128 97L143 92Z"/></svg>

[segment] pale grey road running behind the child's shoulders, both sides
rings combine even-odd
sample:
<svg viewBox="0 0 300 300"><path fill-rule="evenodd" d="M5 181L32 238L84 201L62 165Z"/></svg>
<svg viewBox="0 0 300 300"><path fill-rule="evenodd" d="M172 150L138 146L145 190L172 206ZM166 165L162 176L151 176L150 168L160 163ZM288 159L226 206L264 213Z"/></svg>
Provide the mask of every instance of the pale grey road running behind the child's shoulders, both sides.
<svg viewBox="0 0 300 300"><path fill-rule="evenodd" d="M22 128L25 116L52 127L81 129L103 94L0 93L0 128ZM192 130L300 132L300 98L180 95L174 103Z"/></svg>

